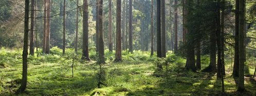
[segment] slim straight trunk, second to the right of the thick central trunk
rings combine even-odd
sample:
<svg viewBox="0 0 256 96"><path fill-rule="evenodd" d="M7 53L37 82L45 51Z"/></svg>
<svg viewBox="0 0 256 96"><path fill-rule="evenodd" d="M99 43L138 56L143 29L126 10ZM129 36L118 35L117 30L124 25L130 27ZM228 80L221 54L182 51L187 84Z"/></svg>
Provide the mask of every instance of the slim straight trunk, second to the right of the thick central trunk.
<svg viewBox="0 0 256 96"><path fill-rule="evenodd" d="M132 29L132 13L133 12L133 0L129 0L129 52L133 52L133 29Z"/></svg>

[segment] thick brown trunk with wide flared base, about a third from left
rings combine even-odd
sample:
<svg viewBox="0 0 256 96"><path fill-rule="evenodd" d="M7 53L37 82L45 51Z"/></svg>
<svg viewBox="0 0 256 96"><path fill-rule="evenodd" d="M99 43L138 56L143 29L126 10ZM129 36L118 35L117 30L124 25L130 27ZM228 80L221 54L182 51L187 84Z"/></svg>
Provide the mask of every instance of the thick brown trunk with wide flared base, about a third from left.
<svg viewBox="0 0 256 96"><path fill-rule="evenodd" d="M88 1L83 1L83 51L82 51L82 60L88 60L89 58L89 51L88 51Z"/></svg>

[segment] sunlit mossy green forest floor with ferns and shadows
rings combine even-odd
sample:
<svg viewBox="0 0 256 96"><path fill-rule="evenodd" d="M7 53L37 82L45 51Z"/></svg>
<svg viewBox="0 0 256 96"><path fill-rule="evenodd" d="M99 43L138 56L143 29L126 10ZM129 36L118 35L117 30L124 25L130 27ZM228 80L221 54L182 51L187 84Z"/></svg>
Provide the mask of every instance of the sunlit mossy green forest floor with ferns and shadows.
<svg viewBox="0 0 256 96"><path fill-rule="evenodd" d="M251 75L254 66L248 67L246 91L240 93L236 91L238 81L226 65L223 93L216 73L188 71L184 68L186 60L174 54L162 60L148 56L149 52L135 51L124 53L123 62L115 63L106 53L107 62L101 64L101 70L95 61L73 62L71 53L58 54L29 56L27 88L19 95L256 95L256 81ZM14 95L22 78L21 51L2 48L0 57L0 95ZM207 59L202 61L203 68L209 64ZM156 69L157 64L163 64L163 69ZM101 88L97 86L99 77L105 84Z"/></svg>

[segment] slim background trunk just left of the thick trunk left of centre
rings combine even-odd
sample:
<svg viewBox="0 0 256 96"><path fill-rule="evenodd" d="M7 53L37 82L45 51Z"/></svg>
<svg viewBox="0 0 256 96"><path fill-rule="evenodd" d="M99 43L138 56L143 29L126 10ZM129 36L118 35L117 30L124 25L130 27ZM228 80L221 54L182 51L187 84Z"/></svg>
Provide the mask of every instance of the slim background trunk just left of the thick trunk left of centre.
<svg viewBox="0 0 256 96"><path fill-rule="evenodd" d="M96 0L96 53L99 52L99 0Z"/></svg>

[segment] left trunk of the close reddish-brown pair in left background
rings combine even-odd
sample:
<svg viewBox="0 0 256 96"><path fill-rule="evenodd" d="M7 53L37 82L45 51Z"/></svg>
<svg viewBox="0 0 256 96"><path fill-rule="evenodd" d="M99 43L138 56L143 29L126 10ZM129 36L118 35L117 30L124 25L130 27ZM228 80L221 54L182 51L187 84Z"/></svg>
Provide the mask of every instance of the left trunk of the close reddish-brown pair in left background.
<svg viewBox="0 0 256 96"><path fill-rule="evenodd" d="M44 32L43 32L43 51L45 53L46 46L46 24L47 24L47 0L44 1Z"/></svg>

